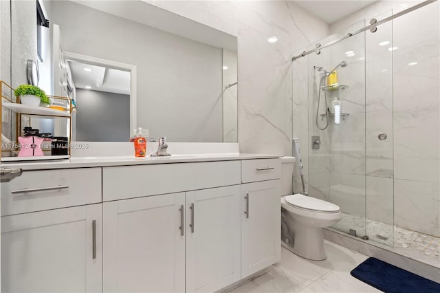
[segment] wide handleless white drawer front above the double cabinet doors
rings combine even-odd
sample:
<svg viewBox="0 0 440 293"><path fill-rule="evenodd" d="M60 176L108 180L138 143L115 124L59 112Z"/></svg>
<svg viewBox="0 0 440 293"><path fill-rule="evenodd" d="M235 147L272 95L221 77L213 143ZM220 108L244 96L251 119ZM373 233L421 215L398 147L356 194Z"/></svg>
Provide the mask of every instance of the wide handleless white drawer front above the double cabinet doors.
<svg viewBox="0 0 440 293"><path fill-rule="evenodd" d="M104 167L102 199L107 202L240 184L240 175L240 161Z"/></svg>

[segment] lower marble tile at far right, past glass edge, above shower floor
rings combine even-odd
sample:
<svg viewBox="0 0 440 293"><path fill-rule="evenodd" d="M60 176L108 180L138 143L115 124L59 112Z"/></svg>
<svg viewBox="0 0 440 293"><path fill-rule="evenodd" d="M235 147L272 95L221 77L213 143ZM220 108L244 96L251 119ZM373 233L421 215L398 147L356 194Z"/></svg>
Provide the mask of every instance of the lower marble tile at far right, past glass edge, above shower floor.
<svg viewBox="0 0 440 293"><path fill-rule="evenodd" d="M440 237L439 183L394 180L395 225Z"/></svg>

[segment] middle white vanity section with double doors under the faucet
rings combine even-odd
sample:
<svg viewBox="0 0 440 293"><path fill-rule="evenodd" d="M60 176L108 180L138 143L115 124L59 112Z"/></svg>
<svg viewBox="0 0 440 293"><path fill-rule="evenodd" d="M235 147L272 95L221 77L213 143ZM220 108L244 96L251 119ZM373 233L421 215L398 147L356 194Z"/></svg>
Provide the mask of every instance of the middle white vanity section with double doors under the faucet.
<svg viewBox="0 0 440 293"><path fill-rule="evenodd" d="M104 167L102 182L104 292L214 292L239 281L239 160Z"/></svg>

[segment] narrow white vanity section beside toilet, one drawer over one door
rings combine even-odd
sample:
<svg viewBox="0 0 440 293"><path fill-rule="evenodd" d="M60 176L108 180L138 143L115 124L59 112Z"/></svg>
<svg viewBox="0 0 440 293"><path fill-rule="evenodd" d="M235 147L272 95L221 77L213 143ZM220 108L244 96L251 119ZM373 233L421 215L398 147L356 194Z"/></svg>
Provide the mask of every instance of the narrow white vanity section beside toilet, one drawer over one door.
<svg viewBox="0 0 440 293"><path fill-rule="evenodd" d="M279 178L279 159L242 161L241 278L281 259Z"/></svg>

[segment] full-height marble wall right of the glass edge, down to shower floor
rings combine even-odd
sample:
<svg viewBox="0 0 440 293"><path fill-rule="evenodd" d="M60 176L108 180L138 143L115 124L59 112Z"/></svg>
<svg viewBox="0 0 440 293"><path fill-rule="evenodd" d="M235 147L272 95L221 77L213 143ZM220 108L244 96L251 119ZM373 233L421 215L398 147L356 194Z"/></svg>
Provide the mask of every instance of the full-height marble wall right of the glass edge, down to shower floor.
<svg viewBox="0 0 440 293"><path fill-rule="evenodd" d="M439 2L395 19L395 224L440 237ZM417 64L415 64L417 62Z"/></svg>

